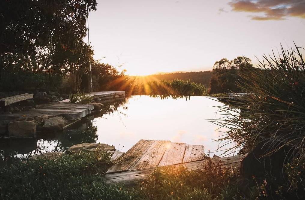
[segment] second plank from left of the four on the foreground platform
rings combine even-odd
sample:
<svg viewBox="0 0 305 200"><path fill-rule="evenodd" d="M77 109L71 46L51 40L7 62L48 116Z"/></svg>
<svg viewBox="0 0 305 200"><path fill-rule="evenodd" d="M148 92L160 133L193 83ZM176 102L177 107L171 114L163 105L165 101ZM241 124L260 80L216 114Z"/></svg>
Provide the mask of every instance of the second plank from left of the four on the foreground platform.
<svg viewBox="0 0 305 200"><path fill-rule="evenodd" d="M153 140L152 145L147 149L135 166L130 168L130 170L157 167L168 146L170 146L170 141Z"/></svg>

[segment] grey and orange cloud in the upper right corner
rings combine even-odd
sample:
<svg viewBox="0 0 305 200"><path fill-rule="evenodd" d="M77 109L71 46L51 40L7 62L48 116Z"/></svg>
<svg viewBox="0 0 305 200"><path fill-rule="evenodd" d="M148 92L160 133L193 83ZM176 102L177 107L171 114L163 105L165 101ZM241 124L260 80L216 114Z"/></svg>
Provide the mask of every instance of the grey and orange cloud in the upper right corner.
<svg viewBox="0 0 305 200"><path fill-rule="evenodd" d="M305 0L232 0L232 11L253 12L252 20L285 20L286 17L305 19Z"/></svg>

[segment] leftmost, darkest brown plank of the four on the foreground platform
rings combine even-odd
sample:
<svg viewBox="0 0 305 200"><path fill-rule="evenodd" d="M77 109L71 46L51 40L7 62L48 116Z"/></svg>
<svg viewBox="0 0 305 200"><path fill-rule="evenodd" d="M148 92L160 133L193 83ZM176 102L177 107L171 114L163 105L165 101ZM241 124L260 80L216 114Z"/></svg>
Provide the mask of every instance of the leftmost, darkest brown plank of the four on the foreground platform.
<svg viewBox="0 0 305 200"><path fill-rule="evenodd" d="M152 140L139 140L123 155L121 162L111 166L106 173L130 170L138 163L152 143Z"/></svg>

